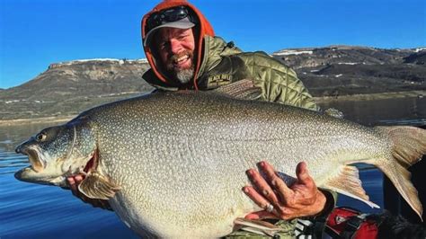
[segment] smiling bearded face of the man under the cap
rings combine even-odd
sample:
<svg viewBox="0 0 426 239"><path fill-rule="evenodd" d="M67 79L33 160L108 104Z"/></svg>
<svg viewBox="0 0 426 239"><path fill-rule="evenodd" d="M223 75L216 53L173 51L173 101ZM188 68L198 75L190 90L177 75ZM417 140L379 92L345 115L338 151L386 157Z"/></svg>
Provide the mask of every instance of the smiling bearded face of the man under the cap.
<svg viewBox="0 0 426 239"><path fill-rule="evenodd" d="M162 28L156 35L158 54L165 70L182 84L194 75L195 40L192 29Z"/></svg>

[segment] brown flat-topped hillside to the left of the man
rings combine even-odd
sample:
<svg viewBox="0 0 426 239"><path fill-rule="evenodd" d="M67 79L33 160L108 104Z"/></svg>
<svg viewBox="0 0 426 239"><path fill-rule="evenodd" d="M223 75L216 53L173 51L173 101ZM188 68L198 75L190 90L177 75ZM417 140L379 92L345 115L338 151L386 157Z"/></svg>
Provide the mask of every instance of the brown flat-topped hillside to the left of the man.
<svg viewBox="0 0 426 239"><path fill-rule="evenodd" d="M92 59L51 64L31 81L0 91L0 120L75 115L152 90L146 60Z"/></svg>

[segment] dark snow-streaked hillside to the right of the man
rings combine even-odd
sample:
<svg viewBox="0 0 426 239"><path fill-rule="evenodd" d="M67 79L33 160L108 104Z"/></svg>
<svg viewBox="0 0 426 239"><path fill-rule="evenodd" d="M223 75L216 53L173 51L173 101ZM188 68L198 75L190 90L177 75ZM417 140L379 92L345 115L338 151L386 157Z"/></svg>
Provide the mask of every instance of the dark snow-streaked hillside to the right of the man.
<svg viewBox="0 0 426 239"><path fill-rule="evenodd" d="M315 96L426 90L426 48L330 46L272 54L291 66Z"/></svg>

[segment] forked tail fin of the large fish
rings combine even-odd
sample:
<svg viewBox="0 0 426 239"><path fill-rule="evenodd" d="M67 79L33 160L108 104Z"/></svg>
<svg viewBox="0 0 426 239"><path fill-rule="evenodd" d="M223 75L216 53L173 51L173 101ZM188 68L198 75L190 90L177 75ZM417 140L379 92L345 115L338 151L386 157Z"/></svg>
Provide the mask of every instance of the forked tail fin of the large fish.
<svg viewBox="0 0 426 239"><path fill-rule="evenodd" d="M410 181L411 173L407 168L420 160L426 154L426 130L409 126L376 127L386 134L393 143L392 158L374 160L379 168L395 185L396 190L408 202L410 207L422 218L422 203L418 192Z"/></svg>

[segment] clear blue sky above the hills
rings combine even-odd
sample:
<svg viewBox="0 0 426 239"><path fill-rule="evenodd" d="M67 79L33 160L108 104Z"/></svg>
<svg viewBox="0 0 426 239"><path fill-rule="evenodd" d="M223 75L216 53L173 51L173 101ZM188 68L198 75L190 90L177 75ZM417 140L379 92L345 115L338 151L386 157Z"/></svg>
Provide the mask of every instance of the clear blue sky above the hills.
<svg viewBox="0 0 426 239"><path fill-rule="evenodd" d="M246 51L335 44L426 46L424 0L192 0L216 34ZM0 88L50 63L145 58L140 19L158 1L0 0Z"/></svg>

